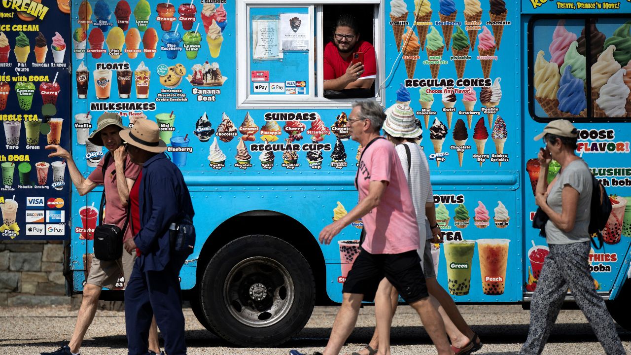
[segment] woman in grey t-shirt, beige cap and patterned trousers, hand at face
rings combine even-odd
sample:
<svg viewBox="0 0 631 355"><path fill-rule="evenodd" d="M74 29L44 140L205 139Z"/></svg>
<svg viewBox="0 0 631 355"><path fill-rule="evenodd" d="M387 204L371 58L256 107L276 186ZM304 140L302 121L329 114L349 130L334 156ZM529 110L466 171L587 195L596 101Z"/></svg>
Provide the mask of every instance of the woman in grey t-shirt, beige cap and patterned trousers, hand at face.
<svg viewBox="0 0 631 355"><path fill-rule="evenodd" d="M542 137L546 147L538 155L541 170L535 199L550 217L545 227L550 254L545 258L534 290L528 339L520 354L541 354L568 289L572 290L606 354L625 354L613 319L589 272L587 227L592 178L587 164L575 154L577 130L569 121L557 119L534 139ZM557 160L561 170L548 185L545 177L552 159Z"/></svg>

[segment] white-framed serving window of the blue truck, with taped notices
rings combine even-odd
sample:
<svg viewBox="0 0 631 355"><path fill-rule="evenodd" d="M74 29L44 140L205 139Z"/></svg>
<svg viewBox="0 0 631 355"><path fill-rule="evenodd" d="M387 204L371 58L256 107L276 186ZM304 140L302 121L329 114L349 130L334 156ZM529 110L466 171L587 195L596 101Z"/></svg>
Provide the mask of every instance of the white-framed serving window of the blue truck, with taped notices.
<svg viewBox="0 0 631 355"><path fill-rule="evenodd" d="M384 61L383 41L380 40L383 29L377 24L383 9L379 0L352 3L238 1L237 52L245 55L237 55L237 106L249 109L309 104L333 108L346 106L360 97L377 97L381 102L383 88L380 88L379 78L384 75L379 63ZM332 91L325 85L325 68L331 67L324 59L326 46L333 45L335 21L347 13L357 16L360 32L357 37L353 35L350 42L359 40L362 48L370 47L375 60L370 75L363 75L366 78L351 84L349 88L353 90L348 90L350 93L335 90L334 95L329 95ZM366 16L370 16L370 21ZM247 38L241 39L241 36ZM345 41L346 37L342 42ZM352 57L353 53L348 60Z"/></svg>

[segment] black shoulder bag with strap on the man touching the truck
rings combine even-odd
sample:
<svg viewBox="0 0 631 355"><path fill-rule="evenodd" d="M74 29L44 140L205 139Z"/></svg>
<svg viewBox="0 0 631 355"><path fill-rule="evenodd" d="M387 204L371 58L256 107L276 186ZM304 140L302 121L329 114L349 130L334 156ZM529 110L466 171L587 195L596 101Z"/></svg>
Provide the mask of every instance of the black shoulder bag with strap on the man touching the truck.
<svg viewBox="0 0 631 355"><path fill-rule="evenodd" d="M105 169L109 164L110 153L105 154L103 161L103 195L101 195L101 207L98 210L98 226L94 230L94 256L98 260L110 261L117 260L122 256L122 239L129 222L129 205L127 205L127 214L125 224L122 230L115 224L103 224L103 206L105 206ZM124 166L125 163L123 163ZM123 167L124 169L124 167Z"/></svg>

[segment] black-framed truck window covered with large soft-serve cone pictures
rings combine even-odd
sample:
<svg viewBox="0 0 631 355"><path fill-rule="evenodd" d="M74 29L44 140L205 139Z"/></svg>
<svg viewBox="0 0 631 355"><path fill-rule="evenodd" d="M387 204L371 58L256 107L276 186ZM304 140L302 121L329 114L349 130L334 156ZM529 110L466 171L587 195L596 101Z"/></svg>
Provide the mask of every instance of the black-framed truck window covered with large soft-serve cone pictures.
<svg viewBox="0 0 631 355"><path fill-rule="evenodd" d="M538 121L626 121L630 18L536 18L529 23L529 111ZM616 44L618 44L616 46Z"/></svg>

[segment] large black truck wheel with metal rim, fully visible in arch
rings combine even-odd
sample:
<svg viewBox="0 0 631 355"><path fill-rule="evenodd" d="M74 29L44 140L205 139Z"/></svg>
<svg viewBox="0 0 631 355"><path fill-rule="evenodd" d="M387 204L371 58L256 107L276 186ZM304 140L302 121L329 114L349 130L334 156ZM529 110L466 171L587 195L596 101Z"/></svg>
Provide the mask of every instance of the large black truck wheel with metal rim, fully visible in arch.
<svg viewBox="0 0 631 355"><path fill-rule="evenodd" d="M291 244L272 236L244 236L210 260L200 300L209 326L221 338L237 346L278 346L309 320L314 276Z"/></svg>

